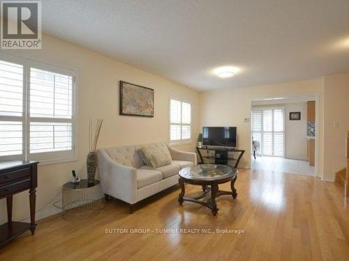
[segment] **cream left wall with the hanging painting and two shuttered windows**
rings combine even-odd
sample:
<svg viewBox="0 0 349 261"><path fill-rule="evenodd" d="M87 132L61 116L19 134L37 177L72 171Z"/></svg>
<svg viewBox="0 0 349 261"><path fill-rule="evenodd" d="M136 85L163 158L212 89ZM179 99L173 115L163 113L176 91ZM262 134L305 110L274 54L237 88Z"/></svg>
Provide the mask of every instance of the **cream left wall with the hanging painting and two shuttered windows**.
<svg viewBox="0 0 349 261"><path fill-rule="evenodd" d="M78 161L39 166L36 209L41 209L60 193L68 182L72 169L86 177L85 160L89 151L89 118L103 118L99 147L168 141L168 98L183 97L193 104L193 143L179 146L180 150L194 150L199 126L199 94L184 86L154 74L133 68L96 52L43 35L42 50L6 51L78 71ZM1 52L0 52L1 58ZM119 81L124 80L154 88L154 118L119 116ZM58 196L57 199L60 197ZM57 212L52 203L37 216ZM28 192L13 199L13 219L29 216ZM6 221L6 200L0 200L0 223Z"/></svg>

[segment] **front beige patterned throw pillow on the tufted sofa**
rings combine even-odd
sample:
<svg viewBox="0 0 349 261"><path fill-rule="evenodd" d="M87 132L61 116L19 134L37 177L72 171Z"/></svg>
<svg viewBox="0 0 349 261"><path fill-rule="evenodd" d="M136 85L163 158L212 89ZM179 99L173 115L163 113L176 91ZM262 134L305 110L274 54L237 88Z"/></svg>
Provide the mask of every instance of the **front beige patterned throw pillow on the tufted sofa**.
<svg viewBox="0 0 349 261"><path fill-rule="evenodd" d="M142 151L144 152L144 156L147 158L149 165L153 168L171 164L172 158L167 147L150 148L144 146L142 147Z"/></svg>

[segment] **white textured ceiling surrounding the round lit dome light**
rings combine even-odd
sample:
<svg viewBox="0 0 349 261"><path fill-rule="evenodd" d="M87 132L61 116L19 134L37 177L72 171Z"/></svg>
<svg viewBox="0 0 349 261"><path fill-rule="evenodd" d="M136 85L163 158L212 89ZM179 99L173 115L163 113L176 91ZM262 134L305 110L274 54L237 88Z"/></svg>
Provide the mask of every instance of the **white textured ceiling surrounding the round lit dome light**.
<svg viewBox="0 0 349 261"><path fill-rule="evenodd" d="M43 31L198 90L349 71L349 0L43 0Z"/></svg>

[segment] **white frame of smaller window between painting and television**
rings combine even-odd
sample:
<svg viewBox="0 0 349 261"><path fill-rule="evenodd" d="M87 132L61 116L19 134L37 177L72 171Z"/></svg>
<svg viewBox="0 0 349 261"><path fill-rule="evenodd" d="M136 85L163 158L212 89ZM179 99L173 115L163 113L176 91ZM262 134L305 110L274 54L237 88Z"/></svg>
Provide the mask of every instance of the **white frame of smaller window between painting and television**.
<svg viewBox="0 0 349 261"><path fill-rule="evenodd" d="M171 100L175 100L177 102L181 102L181 109L182 109L182 102L191 104L191 123L172 123L171 122ZM182 115L181 115L182 116ZM179 140L171 140L171 125L178 125L178 126L190 126L191 127L191 139L179 139ZM180 97L172 96L170 95L168 99L168 143L170 145L186 145L191 144L193 141L193 102L189 100L181 99Z"/></svg>

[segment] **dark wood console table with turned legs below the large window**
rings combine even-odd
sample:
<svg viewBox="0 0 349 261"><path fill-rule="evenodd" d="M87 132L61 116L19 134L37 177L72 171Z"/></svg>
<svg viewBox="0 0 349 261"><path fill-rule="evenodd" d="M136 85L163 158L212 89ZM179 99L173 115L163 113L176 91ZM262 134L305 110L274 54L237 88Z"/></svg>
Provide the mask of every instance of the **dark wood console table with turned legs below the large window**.
<svg viewBox="0 0 349 261"><path fill-rule="evenodd" d="M0 162L0 199L6 198L8 222L0 226L0 246L27 230L34 235L38 161ZM13 195L29 189L30 223L12 221Z"/></svg>

